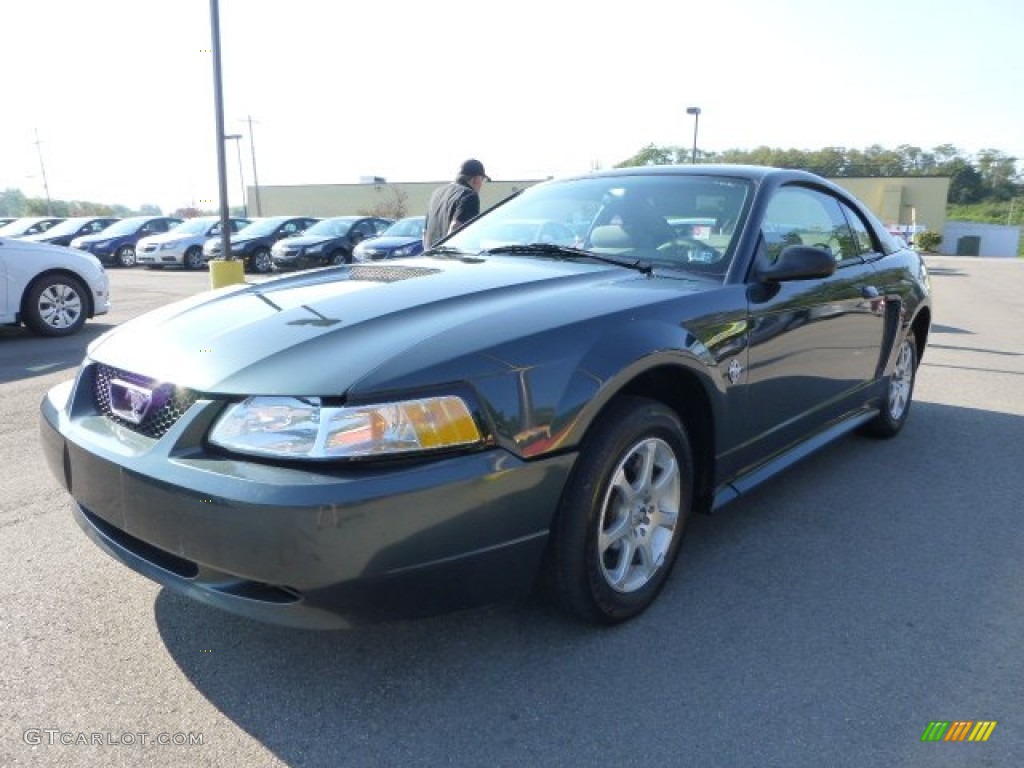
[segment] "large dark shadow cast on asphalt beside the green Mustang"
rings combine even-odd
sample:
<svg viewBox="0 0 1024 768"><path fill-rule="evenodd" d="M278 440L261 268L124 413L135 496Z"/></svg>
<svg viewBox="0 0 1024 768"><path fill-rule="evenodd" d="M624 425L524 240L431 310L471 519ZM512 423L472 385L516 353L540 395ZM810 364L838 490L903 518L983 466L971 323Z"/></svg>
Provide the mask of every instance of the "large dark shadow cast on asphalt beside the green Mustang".
<svg viewBox="0 0 1024 768"><path fill-rule="evenodd" d="M525 600L303 632L167 590L156 621L288 765L752 765L755 741L761 765L858 765L888 743L908 765L938 717L923 701L982 717L972 691L1016 700L998 682L1016 649L977 628L1015 599L1020 483L996 478L1019 477L1021 434L1024 417L915 402L896 439L850 435L692 520L658 601L613 629ZM794 761L798 737L817 757Z"/></svg>

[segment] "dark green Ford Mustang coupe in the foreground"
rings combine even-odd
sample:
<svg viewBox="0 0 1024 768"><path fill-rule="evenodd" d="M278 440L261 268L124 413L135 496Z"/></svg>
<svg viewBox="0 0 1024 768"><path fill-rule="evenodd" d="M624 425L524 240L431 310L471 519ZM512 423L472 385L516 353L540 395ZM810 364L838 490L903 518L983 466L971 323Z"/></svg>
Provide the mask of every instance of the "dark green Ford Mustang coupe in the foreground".
<svg viewBox="0 0 1024 768"><path fill-rule="evenodd" d="M669 223L703 217L700 240ZM542 218L590 224L481 245ZM244 615L341 627L539 582L615 623L695 512L899 433L931 322L921 256L823 178L596 171L418 257L123 323L45 397L42 443L95 544Z"/></svg>

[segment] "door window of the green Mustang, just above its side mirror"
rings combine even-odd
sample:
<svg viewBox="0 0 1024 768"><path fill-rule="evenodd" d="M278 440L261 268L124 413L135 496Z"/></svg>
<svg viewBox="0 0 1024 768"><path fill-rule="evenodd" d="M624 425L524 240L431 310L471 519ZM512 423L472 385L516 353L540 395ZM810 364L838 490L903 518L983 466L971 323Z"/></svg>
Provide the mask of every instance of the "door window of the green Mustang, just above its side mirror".
<svg viewBox="0 0 1024 768"><path fill-rule="evenodd" d="M779 189L768 204L761 229L770 262L791 245L824 248L840 262L860 253L840 202L805 186Z"/></svg>

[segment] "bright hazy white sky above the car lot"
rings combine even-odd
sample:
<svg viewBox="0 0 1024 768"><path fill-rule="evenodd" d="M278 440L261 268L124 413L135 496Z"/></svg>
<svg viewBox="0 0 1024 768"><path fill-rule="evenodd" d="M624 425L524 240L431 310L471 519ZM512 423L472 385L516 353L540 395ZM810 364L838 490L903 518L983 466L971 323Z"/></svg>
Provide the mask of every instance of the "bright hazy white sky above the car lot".
<svg viewBox="0 0 1024 768"><path fill-rule="evenodd" d="M1024 171L1021 0L220 0L228 203L721 152L952 144ZM210 0L0 14L0 189L218 206ZM252 118L252 131L248 118ZM37 143L38 142L38 143ZM239 152L241 151L241 163ZM241 165L241 169L240 169Z"/></svg>

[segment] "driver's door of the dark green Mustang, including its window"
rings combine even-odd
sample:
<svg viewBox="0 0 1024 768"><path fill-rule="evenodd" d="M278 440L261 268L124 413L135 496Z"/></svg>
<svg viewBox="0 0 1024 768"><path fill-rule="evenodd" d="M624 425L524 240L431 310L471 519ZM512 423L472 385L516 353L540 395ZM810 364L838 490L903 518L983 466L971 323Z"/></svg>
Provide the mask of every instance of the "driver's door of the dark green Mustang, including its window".
<svg viewBox="0 0 1024 768"><path fill-rule="evenodd" d="M847 413L873 380L885 333L876 273L840 200L810 186L774 193L758 259L791 244L827 249L833 275L752 284L746 416L756 454L771 455Z"/></svg>

